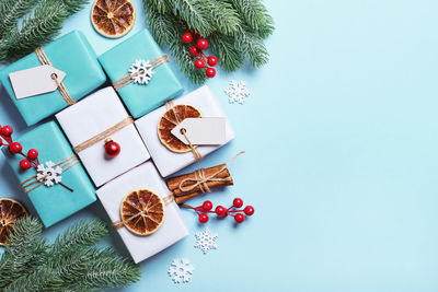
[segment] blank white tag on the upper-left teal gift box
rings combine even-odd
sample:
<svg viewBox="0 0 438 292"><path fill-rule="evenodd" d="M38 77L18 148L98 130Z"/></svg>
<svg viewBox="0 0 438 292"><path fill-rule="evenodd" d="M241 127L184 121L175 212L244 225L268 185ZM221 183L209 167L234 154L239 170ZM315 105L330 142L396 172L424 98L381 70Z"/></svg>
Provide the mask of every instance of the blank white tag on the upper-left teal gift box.
<svg viewBox="0 0 438 292"><path fill-rule="evenodd" d="M56 91L57 85L51 74L56 74L59 83L66 77L66 72L49 65L9 73L16 100Z"/></svg>

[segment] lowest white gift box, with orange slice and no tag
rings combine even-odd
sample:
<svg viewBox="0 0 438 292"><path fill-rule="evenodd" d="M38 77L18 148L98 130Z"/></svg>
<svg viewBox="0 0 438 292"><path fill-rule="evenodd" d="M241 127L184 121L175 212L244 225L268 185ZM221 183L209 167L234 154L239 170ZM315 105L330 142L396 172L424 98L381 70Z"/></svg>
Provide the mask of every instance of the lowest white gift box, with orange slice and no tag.
<svg viewBox="0 0 438 292"><path fill-rule="evenodd" d="M120 220L120 203L124 198L137 189L149 189L165 198L170 191L152 162L123 174L110 182L96 194L112 222ZM177 205L172 201L165 206L162 225L150 235L137 235L125 226L117 230L135 262L140 262L188 235L188 227Z"/></svg>

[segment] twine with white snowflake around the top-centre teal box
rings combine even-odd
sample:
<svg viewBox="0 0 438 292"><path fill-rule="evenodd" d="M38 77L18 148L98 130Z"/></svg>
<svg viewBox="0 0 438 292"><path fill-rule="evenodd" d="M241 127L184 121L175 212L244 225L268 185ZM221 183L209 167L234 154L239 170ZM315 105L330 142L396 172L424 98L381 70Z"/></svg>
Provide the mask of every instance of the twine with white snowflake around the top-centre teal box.
<svg viewBox="0 0 438 292"><path fill-rule="evenodd" d="M130 66L130 69L128 70L128 73L126 75L113 82L113 87L116 91L119 91L122 87L132 82L140 85L146 85L152 79L152 75L154 73L153 69L169 61L170 60L168 55L161 55L154 58L152 61L145 61L143 59L136 60Z"/></svg>

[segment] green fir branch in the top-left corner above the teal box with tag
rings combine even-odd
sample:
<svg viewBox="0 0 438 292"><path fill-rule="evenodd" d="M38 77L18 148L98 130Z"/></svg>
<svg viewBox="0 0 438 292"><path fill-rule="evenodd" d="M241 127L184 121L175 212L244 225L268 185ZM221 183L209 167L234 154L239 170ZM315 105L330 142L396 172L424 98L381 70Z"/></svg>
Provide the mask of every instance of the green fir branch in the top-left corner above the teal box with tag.
<svg viewBox="0 0 438 292"><path fill-rule="evenodd" d="M14 61L51 42L64 21L88 0L4 0L0 4L0 62Z"/></svg>

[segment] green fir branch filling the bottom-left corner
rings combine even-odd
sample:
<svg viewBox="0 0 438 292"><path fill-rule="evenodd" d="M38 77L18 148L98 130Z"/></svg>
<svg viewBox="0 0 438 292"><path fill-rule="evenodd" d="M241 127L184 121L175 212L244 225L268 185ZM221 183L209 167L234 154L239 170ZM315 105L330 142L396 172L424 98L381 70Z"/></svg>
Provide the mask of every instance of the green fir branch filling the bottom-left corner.
<svg viewBox="0 0 438 292"><path fill-rule="evenodd" d="M95 246L107 234L102 221L80 221L51 244L42 230L31 217L16 222L0 259L1 291L95 291L139 280L131 260Z"/></svg>

